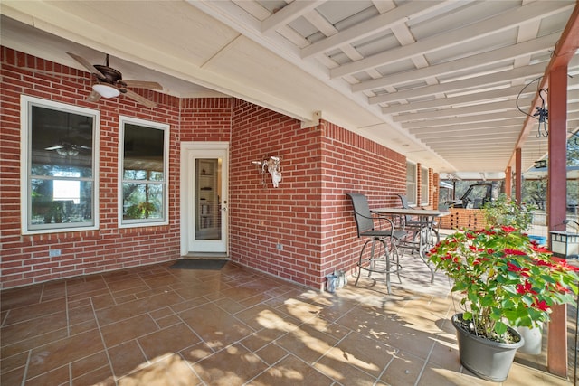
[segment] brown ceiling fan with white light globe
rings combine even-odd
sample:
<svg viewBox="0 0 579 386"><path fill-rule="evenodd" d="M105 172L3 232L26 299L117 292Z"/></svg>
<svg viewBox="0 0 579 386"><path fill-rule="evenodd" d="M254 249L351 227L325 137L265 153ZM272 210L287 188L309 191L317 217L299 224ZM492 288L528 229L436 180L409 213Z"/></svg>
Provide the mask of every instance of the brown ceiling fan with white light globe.
<svg viewBox="0 0 579 386"><path fill-rule="evenodd" d="M135 91L128 89L128 87L134 87L137 89L163 89L163 86L156 81L124 80L120 71L109 67L109 54L107 54L105 65L100 65L90 64L89 61L74 53L66 53L71 56L72 59L81 63L84 68L89 70L90 73L97 78L96 82L92 85L92 92L90 92L90 95L87 98L88 101L96 102L100 97L114 98L118 97L120 94L124 94L128 98L147 106L147 108L155 107L155 102L141 97Z"/></svg>

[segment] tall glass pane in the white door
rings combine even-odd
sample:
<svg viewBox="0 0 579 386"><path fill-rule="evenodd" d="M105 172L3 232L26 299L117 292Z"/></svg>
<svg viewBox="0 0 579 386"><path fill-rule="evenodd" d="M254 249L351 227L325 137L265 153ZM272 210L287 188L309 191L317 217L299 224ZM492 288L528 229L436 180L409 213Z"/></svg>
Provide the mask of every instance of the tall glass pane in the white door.
<svg viewBox="0 0 579 386"><path fill-rule="evenodd" d="M221 160L195 160L195 240L221 240Z"/></svg>

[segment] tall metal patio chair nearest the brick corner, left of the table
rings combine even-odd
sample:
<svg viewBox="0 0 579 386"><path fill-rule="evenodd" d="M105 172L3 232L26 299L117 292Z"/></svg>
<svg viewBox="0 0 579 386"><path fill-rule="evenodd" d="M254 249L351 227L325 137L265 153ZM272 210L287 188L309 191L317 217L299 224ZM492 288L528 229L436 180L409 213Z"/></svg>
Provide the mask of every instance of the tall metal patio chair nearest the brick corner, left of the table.
<svg viewBox="0 0 579 386"><path fill-rule="evenodd" d="M360 251L360 257L357 262L358 275L354 285L356 286L358 284L362 269L368 271L368 277L372 275L372 272L382 273L386 275L386 287L390 294L390 274L395 273L398 276L398 280L402 283L402 280L400 279L400 270L402 269L402 266L400 265L396 243L398 240L403 239L406 236L406 232L396 230L394 221L390 218L372 212L364 194L346 193L346 195L350 198L354 208L358 237L369 238L369 240L365 241L364 246ZM385 221L386 224L382 224L382 221ZM380 246L384 248L383 254L380 253L380 250L376 253L376 242L379 243L378 249L380 249ZM370 255L365 258L364 251L370 243L372 244ZM392 267L391 260L394 261L394 268ZM376 262L385 262L386 267L376 267Z"/></svg>

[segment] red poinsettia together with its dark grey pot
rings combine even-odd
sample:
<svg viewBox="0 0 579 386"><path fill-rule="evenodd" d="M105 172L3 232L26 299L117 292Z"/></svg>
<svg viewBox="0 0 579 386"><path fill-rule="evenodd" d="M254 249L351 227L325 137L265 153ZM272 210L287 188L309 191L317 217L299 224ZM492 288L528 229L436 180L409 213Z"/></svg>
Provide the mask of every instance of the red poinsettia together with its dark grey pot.
<svg viewBox="0 0 579 386"><path fill-rule="evenodd" d="M438 243L430 259L462 295L462 313L452 317L460 362L489 381L507 379L523 344L514 327L548 321L552 306L577 294L577 269L512 226L458 231Z"/></svg>

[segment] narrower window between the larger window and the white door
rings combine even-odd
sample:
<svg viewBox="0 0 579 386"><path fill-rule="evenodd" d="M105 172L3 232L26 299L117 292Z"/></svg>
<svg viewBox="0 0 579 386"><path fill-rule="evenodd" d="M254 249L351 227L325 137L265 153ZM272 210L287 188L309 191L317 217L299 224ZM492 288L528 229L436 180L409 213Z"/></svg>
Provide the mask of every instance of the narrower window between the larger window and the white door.
<svg viewBox="0 0 579 386"><path fill-rule="evenodd" d="M168 125L119 117L119 226L168 224Z"/></svg>

